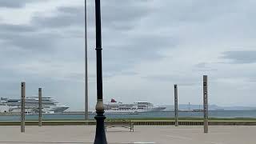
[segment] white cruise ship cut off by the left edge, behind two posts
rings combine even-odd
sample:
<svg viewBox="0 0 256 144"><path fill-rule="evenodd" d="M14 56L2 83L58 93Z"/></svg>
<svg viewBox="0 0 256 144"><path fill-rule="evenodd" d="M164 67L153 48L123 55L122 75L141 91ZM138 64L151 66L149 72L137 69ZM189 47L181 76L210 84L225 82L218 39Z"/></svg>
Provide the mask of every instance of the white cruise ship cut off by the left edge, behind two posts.
<svg viewBox="0 0 256 144"><path fill-rule="evenodd" d="M20 112L21 99L1 98L1 103L9 107L9 112ZM54 98L42 98L43 113L62 113L69 107L57 102ZM25 99L26 113L38 113L38 97L26 97Z"/></svg>

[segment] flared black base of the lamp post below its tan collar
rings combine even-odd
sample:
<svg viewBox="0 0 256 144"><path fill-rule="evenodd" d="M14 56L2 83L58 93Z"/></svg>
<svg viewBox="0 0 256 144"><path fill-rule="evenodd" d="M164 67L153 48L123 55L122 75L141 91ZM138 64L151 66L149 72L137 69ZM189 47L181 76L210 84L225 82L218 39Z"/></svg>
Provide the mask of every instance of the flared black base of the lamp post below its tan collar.
<svg viewBox="0 0 256 144"><path fill-rule="evenodd" d="M97 111L97 115L94 117L96 119L96 135L94 144L107 144L106 142L106 132L104 126L104 120L106 119L104 111Z"/></svg>

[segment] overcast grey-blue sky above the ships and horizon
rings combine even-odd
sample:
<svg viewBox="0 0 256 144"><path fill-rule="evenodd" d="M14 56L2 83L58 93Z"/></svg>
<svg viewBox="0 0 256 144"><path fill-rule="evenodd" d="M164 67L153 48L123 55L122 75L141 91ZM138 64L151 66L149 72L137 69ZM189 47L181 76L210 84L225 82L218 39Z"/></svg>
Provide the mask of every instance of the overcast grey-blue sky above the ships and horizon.
<svg viewBox="0 0 256 144"><path fill-rule="evenodd" d="M256 105L256 1L102 1L104 101ZM90 108L96 102L94 0L88 0ZM84 0L0 0L1 97L84 109Z"/></svg>

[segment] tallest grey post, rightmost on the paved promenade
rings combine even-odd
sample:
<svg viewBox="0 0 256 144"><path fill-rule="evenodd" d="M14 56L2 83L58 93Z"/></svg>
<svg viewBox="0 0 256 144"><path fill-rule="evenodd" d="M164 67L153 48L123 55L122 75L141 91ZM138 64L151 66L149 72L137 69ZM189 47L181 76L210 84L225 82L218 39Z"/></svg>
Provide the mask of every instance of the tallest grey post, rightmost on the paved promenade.
<svg viewBox="0 0 256 144"><path fill-rule="evenodd" d="M207 75L203 76L203 115L204 115L204 133L208 133L208 82L207 82Z"/></svg>

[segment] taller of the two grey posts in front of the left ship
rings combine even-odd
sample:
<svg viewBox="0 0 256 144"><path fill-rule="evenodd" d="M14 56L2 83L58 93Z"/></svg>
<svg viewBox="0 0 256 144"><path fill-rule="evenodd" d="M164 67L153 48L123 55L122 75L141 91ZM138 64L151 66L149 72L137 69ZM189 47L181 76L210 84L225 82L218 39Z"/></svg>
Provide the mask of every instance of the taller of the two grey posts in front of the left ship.
<svg viewBox="0 0 256 144"><path fill-rule="evenodd" d="M25 132L25 89L26 84L22 82L21 87L21 132Z"/></svg>

